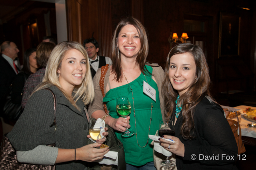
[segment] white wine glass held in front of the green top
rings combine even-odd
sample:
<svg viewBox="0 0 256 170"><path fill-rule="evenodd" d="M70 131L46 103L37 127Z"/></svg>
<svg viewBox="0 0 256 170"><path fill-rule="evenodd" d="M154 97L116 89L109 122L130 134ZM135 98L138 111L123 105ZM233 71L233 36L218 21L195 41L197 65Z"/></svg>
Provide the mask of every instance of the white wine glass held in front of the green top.
<svg viewBox="0 0 256 170"><path fill-rule="evenodd" d="M126 117L131 113L131 103L127 96L122 96L116 99L116 111L117 113L124 117ZM126 127L126 131L122 133L122 136L128 137L134 135L134 131L129 131Z"/></svg>

